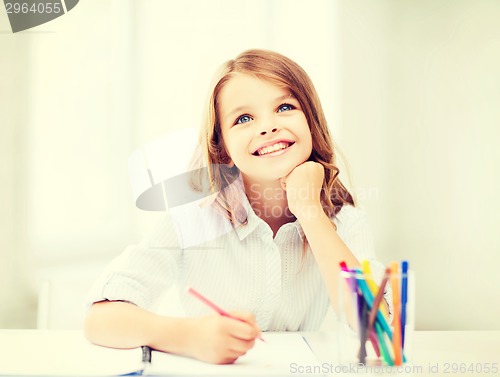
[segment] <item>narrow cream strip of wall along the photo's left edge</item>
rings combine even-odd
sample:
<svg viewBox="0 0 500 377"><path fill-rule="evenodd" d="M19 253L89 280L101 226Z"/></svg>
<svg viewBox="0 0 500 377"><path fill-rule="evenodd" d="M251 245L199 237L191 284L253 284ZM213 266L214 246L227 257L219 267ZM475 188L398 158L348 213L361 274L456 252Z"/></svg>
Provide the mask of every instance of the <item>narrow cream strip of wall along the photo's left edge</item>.
<svg viewBox="0 0 500 377"><path fill-rule="evenodd" d="M0 30L7 24L0 15ZM5 15L6 18L6 15ZM25 168L29 38L0 34L0 327L22 327L34 320L31 271L24 242ZM22 297L22 299L19 299Z"/></svg>

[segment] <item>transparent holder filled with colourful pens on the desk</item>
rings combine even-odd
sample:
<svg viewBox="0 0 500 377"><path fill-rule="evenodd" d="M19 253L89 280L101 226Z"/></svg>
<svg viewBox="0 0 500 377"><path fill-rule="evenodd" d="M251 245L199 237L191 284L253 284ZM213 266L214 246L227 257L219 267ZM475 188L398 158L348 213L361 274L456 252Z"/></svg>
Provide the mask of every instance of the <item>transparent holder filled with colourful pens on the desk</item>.
<svg viewBox="0 0 500 377"><path fill-rule="evenodd" d="M385 294L377 300L381 285ZM399 366L409 362L415 329L413 271L387 269L380 281L360 270L341 271L338 287L339 364Z"/></svg>

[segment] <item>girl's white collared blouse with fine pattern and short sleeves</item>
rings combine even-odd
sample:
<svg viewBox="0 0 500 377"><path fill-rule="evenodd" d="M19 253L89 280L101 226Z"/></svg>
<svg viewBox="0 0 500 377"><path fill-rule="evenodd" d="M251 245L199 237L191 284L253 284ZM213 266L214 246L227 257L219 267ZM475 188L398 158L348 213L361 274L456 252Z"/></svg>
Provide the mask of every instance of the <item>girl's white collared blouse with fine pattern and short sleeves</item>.
<svg viewBox="0 0 500 377"><path fill-rule="evenodd" d="M248 223L239 228L199 206L170 210L150 239L128 247L106 268L88 304L122 300L152 309L176 287L186 316L212 314L187 293L193 287L227 311L254 313L262 331L317 330L329 299L311 250L303 252L302 227L298 221L287 223L273 238L248 201L244 207ZM375 261L365 213L345 205L334 223L340 238L358 260L370 261L380 281L384 267Z"/></svg>

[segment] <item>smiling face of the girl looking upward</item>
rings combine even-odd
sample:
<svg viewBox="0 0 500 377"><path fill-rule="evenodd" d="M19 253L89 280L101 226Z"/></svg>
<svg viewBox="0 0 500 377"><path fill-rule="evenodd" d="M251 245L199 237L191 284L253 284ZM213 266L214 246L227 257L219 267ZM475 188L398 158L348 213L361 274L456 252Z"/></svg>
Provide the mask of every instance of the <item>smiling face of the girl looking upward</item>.
<svg viewBox="0 0 500 377"><path fill-rule="evenodd" d="M306 117L285 88L236 73L219 93L218 110L226 152L247 183L285 177L311 155Z"/></svg>

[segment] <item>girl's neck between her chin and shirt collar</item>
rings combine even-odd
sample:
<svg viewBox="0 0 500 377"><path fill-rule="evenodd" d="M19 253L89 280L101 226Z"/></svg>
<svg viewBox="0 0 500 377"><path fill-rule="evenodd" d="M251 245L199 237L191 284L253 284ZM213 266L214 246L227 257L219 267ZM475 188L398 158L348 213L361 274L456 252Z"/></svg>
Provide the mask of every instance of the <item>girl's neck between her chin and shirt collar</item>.
<svg viewBox="0 0 500 377"><path fill-rule="evenodd" d="M255 182L243 178L243 183L252 209L271 227L273 236L282 225L296 220L288 209L286 191L278 180Z"/></svg>

